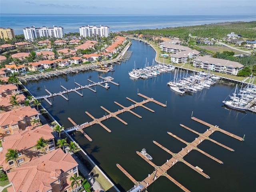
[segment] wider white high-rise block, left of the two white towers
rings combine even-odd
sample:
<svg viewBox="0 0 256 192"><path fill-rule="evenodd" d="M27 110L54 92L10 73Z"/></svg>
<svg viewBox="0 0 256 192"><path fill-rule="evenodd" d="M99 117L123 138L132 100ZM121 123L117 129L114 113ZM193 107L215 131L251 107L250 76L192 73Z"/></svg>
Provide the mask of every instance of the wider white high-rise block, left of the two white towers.
<svg viewBox="0 0 256 192"><path fill-rule="evenodd" d="M53 26L52 28L42 26L40 28L26 27L23 29L23 33L26 40L33 40L37 37L56 37L63 38L64 28Z"/></svg>

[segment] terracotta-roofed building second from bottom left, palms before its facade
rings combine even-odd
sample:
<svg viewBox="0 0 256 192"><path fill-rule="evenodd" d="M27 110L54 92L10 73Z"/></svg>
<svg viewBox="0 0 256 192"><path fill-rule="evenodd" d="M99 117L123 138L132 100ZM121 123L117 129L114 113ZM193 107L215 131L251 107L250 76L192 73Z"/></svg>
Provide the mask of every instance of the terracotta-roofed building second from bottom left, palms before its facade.
<svg viewBox="0 0 256 192"><path fill-rule="evenodd" d="M17 161L10 160L5 162L5 158L1 158L1 165L4 171L11 172L14 168L28 163L33 158L40 157L44 153L55 150L54 136L52 133L52 128L48 124L45 124L42 126L28 126L26 130L18 130L10 136L5 136L2 139L2 156L6 155L8 149L16 149L19 153ZM40 138L48 140L43 149L37 149L35 147L36 142Z"/></svg>

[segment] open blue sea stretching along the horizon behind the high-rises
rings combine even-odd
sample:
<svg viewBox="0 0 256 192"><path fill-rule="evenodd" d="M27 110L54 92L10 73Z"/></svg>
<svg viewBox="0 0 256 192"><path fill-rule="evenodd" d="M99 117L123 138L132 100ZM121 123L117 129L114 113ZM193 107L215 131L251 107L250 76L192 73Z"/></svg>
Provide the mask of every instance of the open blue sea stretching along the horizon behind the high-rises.
<svg viewBox="0 0 256 192"><path fill-rule="evenodd" d="M64 32L79 32L85 25L109 26L110 31L192 26L218 22L253 21L255 14L209 15L86 15L86 14L0 14L1 27L23 34L23 28L62 26Z"/></svg>

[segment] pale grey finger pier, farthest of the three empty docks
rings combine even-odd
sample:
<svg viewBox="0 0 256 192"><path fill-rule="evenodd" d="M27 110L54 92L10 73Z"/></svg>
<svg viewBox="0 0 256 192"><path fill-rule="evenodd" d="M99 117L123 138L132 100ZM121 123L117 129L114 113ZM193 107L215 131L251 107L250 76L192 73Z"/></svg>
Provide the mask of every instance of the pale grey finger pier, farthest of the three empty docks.
<svg viewBox="0 0 256 192"><path fill-rule="evenodd" d="M96 90L92 89L91 87L94 87L94 86L97 86L97 85L98 85L98 86L101 86L101 87L103 87L103 88L105 88L105 89L108 89L109 87L102 85L102 84L105 84L105 83L112 83L112 84L114 84L114 85L116 85L116 86L119 86L118 83L113 82L112 80L109 80L108 78L100 77L100 79L102 79L102 81L100 81L100 82L93 82L92 80L89 80L89 79L88 79L88 81L91 82L92 84L89 84L89 85L86 85L86 86L82 86L82 85L78 84L77 82L75 82L75 84L78 85L78 87L77 87L77 88L70 89L70 90L68 90L68 89L65 88L64 86L60 85L60 87L61 87L62 89L64 89L64 91L62 91L62 92L60 91L59 93L51 93L49 90L47 90L46 88L44 88L44 90L45 90L49 95L37 96L37 97L34 97L34 98L37 99L37 100L44 99L48 104L52 105L52 102L50 102L50 101L48 100L48 98L52 98L52 97L55 97L55 96L61 96L62 98L64 98L65 100L68 101L68 97L64 96L64 94L68 94L68 93L70 93L70 92L75 92L75 93L77 93L77 94L80 95L80 96L84 96L82 93L78 92L78 90L82 90L82 89L86 89L86 88L87 88L87 89L89 89L89 90L91 90L91 91L93 91L93 92L96 92Z"/></svg>

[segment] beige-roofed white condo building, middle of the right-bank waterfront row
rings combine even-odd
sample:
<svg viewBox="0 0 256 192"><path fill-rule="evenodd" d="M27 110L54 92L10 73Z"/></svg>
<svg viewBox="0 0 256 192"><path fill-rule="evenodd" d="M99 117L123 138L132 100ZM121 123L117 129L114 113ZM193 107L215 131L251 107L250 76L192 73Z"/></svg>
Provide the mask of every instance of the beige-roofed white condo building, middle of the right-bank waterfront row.
<svg viewBox="0 0 256 192"><path fill-rule="evenodd" d="M197 50L188 50L178 52L176 54L170 54L169 57L171 58L172 63L186 63L188 62L188 58L197 58L199 57L200 52Z"/></svg>

